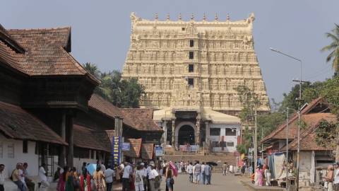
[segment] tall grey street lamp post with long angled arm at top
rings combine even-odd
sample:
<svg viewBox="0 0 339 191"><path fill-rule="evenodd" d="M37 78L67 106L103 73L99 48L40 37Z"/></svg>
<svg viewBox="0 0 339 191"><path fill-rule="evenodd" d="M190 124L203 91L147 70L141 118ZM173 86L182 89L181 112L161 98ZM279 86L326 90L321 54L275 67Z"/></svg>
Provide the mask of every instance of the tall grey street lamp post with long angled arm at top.
<svg viewBox="0 0 339 191"><path fill-rule="evenodd" d="M277 52L279 54L283 54L286 57L290 57L291 59L295 59L298 62L300 62L300 80L299 80L299 106L298 106L298 149L297 149L297 190L299 190L299 155L300 155L300 123L301 123L301 115L302 115L302 111L301 111L301 102L302 102L302 60L298 59L296 57L292 57L289 54L286 54L284 52L280 52L279 50L275 50L274 48L270 47L270 50L272 50L273 52Z"/></svg>

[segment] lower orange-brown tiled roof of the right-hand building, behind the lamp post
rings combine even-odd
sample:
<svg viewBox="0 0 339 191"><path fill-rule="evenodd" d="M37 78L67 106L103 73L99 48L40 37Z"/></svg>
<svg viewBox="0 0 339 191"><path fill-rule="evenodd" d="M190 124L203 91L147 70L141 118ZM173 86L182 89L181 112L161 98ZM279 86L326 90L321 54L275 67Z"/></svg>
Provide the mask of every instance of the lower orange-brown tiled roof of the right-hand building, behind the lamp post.
<svg viewBox="0 0 339 191"><path fill-rule="evenodd" d="M309 120L312 120L310 125L308 125L307 129L300 133L300 150L302 151L327 151L333 150L332 147L323 147L316 144L316 134L314 133L315 129L319 127L321 120L326 120L328 122L336 122L337 117L331 113L314 113L309 114L312 115ZM297 139L294 139L288 145L288 149L292 151L297 150ZM286 150L286 146L284 146L282 151Z"/></svg>

